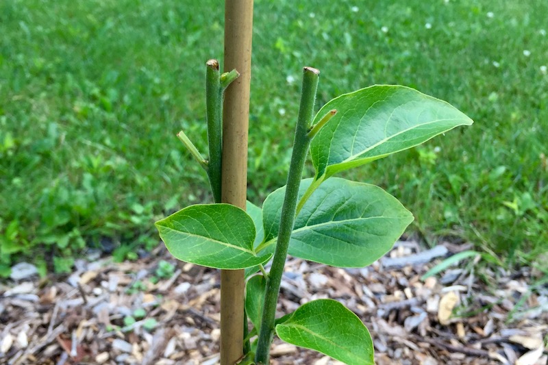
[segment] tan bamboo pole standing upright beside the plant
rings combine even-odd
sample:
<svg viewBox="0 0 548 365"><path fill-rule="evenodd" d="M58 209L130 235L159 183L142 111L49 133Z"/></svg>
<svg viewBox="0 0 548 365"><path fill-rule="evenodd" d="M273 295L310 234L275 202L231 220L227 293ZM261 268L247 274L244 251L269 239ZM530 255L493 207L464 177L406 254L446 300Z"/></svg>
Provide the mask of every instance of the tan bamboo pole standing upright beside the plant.
<svg viewBox="0 0 548 365"><path fill-rule="evenodd" d="M223 105L221 200L245 209L247 129L251 82L253 0L225 0L225 72L241 74L228 86ZM244 270L221 270L221 365L243 354Z"/></svg>

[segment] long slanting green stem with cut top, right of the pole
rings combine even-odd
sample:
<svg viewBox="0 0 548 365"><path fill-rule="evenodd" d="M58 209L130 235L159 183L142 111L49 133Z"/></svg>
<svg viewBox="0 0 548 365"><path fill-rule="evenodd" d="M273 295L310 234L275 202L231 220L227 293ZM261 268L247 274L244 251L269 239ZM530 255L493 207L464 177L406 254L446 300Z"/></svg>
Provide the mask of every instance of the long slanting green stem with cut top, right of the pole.
<svg viewBox="0 0 548 365"><path fill-rule="evenodd" d="M293 225L295 224L295 209L301 175L306 161L306 154L310 146L308 129L314 112L314 101L318 88L319 71L315 68L305 67L303 70L303 89L301 91L301 105L299 118L295 128L295 142L289 166L289 175L286 185L286 196L282 205L282 217L279 222L279 232L276 249L272 261L269 279L266 281L264 306L262 310L261 327L257 344L255 361L258 364L269 364L270 345L274 336L276 304L278 300L279 285L282 283L282 274L286 263L287 250Z"/></svg>

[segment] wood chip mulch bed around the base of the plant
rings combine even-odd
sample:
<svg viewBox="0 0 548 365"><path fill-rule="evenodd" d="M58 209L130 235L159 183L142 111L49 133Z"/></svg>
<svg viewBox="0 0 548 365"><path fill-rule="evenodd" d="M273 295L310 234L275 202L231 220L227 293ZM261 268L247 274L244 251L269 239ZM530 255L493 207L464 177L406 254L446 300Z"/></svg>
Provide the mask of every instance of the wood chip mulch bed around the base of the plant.
<svg viewBox="0 0 548 365"><path fill-rule="evenodd" d="M398 242L361 269L290 258L279 315L336 299L370 329L379 365L548 364L548 282L540 272L478 266L476 258L421 280L462 249ZM137 262L90 259L69 276L0 285L1 364L219 362L217 270L177 262L162 246ZM175 264L175 273L153 284L160 260ZM273 364L341 364L279 340L271 355Z"/></svg>

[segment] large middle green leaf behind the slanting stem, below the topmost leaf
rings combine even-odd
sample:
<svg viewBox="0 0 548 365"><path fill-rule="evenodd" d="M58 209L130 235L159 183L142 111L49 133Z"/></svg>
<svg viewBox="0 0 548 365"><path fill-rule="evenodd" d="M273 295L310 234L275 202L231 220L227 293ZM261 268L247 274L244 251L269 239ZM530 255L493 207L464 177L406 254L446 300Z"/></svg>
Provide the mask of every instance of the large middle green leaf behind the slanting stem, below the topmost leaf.
<svg viewBox="0 0 548 365"><path fill-rule="evenodd" d="M311 182L301 181L299 199ZM285 192L279 188L264 201L266 240L278 234ZM367 266L388 252L412 221L412 214L378 186L331 177L295 219L288 253L331 266Z"/></svg>

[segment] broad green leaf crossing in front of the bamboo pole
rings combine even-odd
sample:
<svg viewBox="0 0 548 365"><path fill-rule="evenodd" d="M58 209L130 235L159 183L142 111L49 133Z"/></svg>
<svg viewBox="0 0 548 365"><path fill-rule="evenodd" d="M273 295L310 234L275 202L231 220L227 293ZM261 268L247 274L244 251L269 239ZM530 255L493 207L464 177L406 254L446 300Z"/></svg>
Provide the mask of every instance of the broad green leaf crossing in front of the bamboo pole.
<svg viewBox="0 0 548 365"><path fill-rule="evenodd" d="M192 264L237 269L256 266L270 258L258 257L253 251L253 220L234 205L191 205L156 222L156 228L169 252Z"/></svg>

